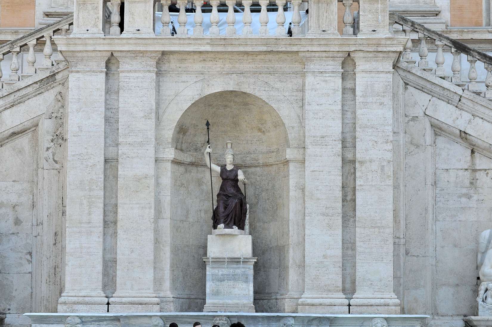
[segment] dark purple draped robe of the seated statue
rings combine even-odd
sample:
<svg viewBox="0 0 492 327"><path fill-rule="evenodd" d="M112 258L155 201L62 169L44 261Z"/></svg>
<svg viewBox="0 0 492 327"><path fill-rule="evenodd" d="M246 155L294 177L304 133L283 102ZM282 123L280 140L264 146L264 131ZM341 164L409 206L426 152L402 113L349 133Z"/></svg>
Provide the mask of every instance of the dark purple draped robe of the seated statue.
<svg viewBox="0 0 492 327"><path fill-rule="evenodd" d="M212 215L214 229L220 224L224 224L224 228L236 226L240 230L245 229L246 198L238 185L238 170L236 167L228 170L220 166L222 184L217 193L217 207Z"/></svg>

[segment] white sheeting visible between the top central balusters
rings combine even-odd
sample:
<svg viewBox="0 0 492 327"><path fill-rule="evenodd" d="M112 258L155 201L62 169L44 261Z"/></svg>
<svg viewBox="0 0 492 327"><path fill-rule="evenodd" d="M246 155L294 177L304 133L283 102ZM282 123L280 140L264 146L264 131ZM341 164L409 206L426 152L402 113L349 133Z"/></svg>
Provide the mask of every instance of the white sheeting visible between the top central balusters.
<svg viewBox="0 0 492 327"><path fill-rule="evenodd" d="M285 28L285 33L287 33L287 29L289 27L289 23L292 21L292 14L293 11L286 11L284 12L285 14L285 24L283 25ZM155 13L155 34L159 35L160 34L160 29L162 27L162 23L160 22L160 17L161 17L160 12ZM202 14L203 15L203 33L204 34L209 34L209 29L212 26L210 24L210 13L207 14ZM236 34L243 34L243 13L238 12L235 13L236 15L236 24L234 24L234 27L236 27ZM188 35L193 34L193 28L195 27L195 22L194 22L194 13L187 13L186 14L188 18L188 22L186 23L186 28L188 29ZM225 18L227 16L226 12L219 12L218 17L219 17L219 22L218 22L218 28L220 30L220 34L225 34L225 29L227 27L227 22L225 21ZM275 30L277 29L277 12L269 12L268 13L268 30L270 31L270 35L275 35ZM251 28L253 29L253 34L259 34L260 30L260 13L251 13ZM301 11L301 25L304 23L306 20L306 12ZM171 13L171 21L174 22L174 26L176 27L176 30L178 30L178 27L180 26L178 23L178 13ZM171 26L171 25L169 25Z"/></svg>

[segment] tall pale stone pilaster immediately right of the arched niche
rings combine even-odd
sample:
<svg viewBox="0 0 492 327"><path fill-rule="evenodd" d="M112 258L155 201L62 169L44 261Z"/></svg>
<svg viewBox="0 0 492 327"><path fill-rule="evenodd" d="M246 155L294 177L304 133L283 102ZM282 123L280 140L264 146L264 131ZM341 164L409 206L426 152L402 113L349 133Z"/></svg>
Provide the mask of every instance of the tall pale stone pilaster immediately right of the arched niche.
<svg viewBox="0 0 492 327"><path fill-rule="evenodd" d="M341 62L346 52L305 61L305 288L299 312L348 313L341 258Z"/></svg>

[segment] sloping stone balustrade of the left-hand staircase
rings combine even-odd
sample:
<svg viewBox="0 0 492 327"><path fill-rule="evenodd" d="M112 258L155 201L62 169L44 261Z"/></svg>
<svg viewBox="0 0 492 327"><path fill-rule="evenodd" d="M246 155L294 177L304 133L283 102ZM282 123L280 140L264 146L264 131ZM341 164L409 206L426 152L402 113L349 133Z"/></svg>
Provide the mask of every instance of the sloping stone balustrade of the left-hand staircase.
<svg viewBox="0 0 492 327"><path fill-rule="evenodd" d="M34 30L29 34L21 36L15 40L7 42L0 46L0 63L4 59L5 55L12 54L12 61L10 62L10 75L8 80L0 83L0 88L4 86L14 85L22 79L26 79L34 75L37 71L46 70L53 66L53 47L51 45L51 39L55 32L60 32L61 36L66 36L70 26L73 24L73 15L68 15L59 21L56 21L50 25L47 25L39 30ZM38 40L45 40L43 55L44 60L41 65L35 66L36 56L34 53L34 47L37 45ZM19 75L19 59L18 55L22 48L27 47L29 49L27 63L28 66L24 74ZM0 65L0 79L3 76Z"/></svg>

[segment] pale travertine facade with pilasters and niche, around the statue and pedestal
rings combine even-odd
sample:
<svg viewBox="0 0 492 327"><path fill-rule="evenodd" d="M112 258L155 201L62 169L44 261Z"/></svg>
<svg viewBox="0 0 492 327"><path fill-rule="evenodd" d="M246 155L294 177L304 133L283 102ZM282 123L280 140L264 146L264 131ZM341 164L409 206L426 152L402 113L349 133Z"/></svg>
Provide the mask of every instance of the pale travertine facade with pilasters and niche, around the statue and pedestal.
<svg viewBox="0 0 492 327"><path fill-rule="evenodd" d="M103 36L105 3L74 2L73 32L54 37L66 62L0 89L6 325L203 310L207 119L212 161L232 141L249 182L256 312L438 326L474 313L492 102L407 63L417 54L388 30L395 1L360 0L360 32L344 37L337 1L311 1L293 38L155 36L152 0L126 0L128 30Z"/></svg>

